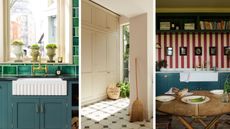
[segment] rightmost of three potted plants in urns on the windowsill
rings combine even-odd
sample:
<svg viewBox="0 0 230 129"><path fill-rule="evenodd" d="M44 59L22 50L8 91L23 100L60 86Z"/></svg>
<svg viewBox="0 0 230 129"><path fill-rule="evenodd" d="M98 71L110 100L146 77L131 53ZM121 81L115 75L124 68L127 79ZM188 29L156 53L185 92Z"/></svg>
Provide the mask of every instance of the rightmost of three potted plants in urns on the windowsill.
<svg viewBox="0 0 230 129"><path fill-rule="evenodd" d="M47 62L55 62L53 58L56 55L56 49L57 49L56 44L50 43L46 45L46 50L47 50L46 54L49 57L49 60Z"/></svg>

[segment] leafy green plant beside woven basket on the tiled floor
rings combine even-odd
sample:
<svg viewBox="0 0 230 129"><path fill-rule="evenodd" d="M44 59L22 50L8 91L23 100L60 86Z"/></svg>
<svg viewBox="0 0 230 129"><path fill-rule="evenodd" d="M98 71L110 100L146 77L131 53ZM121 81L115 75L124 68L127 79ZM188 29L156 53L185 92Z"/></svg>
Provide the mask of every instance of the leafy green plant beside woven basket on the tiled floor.
<svg viewBox="0 0 230 129"><path fill-rule="evenodd" d="M118 87L120 87L120 96L122 98L129 97L130 94L130 84L128 82L119 82L117 84Z"/></svg>

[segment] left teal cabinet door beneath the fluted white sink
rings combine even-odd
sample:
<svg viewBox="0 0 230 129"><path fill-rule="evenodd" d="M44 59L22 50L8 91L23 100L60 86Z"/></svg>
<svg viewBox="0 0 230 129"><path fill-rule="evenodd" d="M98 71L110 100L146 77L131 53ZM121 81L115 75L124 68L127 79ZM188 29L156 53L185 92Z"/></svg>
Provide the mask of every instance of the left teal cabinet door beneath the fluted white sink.
<svg viewBox="0 0 230 129"><path fill-rule="evenodd" d="M39 129L39 99L12 100L13 129Z"/></svg>

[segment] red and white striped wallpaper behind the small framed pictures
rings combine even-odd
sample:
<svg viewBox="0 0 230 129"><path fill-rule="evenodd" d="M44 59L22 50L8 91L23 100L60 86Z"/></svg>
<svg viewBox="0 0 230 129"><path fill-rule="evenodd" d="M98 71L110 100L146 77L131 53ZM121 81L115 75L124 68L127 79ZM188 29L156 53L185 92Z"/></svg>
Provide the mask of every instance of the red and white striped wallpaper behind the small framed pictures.
<svg viewBox="0 0 230 129"><path fill-rule="evenodd" d="M224 55L224 46L230 46L230 33L159 33L156 41L156 60L167 60L167 68L194 68L204 62L210 67L229 68L230 60ZM173 56L166 56L166 47L173 48ZM187 56L180 56L180 47L187 47ZM195 47L202 47L202 56L195 56ZM217 55L209 55L209 47L217 48Z"/></svg>

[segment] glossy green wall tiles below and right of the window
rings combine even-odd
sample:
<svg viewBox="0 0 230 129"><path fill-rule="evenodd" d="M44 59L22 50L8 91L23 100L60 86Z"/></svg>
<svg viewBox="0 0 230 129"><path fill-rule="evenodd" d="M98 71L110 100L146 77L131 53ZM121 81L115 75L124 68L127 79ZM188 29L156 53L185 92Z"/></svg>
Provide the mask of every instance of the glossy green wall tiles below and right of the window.
<svg viewBox="0 0 230 129"><path fill-rule="evenodd" d="M79 1L73 0L73 64L52 64L48 65L48 74L54 75L59 67L62 74L77 75L78 68L78 27L79 27ZM43 65L44 66L44 65ZM36 72L36 74L44 74L45 71ZM32 64L0 64L0 74L6 75L32 75Z"/></svg>

